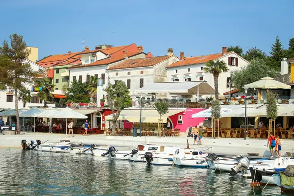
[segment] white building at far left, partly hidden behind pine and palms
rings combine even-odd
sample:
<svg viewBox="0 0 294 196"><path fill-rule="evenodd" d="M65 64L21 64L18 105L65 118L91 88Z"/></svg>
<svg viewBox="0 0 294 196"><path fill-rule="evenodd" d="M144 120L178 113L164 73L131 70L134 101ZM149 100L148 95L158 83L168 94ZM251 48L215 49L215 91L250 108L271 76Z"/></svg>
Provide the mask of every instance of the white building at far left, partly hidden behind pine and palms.
<svg viewBox="0 0 294 196"><path fill-rule="evenodd" d="M30 60L25 60L24 63L29 63L31 65L31 67L33 68L34 71L38 71L38 70L43 70L45 71L46 68L37 65L36 63L30 61ZM38 75L35 79L42 79L43 77L45 77L45 75ZM32 86L34 84L29 84L26 83L25 87L29 90L32 89ZM35 85L36 86L36 85ZM30 103L26 103L25 107L29 108L29 107L38 107L38 106L44 106L43 100L40 100L37 96L37 91L32 91L31 92L31 102ZM9 92L7 91L0 91L0 109L8 109L8 108L12 108L15 109L15 95L14 92ZM48 104L48 106L50 107L55 107L55 104ZM19 101L18 100L18 108L23 108L23 101Z"/></svg>

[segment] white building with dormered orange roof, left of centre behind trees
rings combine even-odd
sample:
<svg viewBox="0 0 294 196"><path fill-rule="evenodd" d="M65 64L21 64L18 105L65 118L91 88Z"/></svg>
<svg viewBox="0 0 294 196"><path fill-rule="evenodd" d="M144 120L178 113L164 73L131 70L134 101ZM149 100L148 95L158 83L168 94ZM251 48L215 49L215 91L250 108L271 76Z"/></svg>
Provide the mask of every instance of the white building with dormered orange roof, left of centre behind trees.
<svg viewBox="0 0 294 196"><path fill-rule="evenodd" d="M104 84L108 83L108 76L105 77L106 69L120 64L126 59L144 58L148 54L143 52L143 47L137 47L136 44L121 47L106 47L106 49L85 50L80 53L82 65L68 68L70 71L70 85L73 80L86 82L90 80L90 76L96 76L104 80ZM91 62L91 63L89 63ZM100 88L98 91L99 99L105 94Z"/></svg>

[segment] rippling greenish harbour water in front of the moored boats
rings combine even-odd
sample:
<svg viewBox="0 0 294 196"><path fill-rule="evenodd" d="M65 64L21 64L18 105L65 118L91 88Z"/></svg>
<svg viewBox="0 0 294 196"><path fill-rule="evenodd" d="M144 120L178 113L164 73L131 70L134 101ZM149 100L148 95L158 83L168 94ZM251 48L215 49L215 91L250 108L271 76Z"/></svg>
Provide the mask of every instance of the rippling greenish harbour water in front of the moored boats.
<svg viewBox="0 0 294 196"><path fill-rule="evenodd" d="M103 157L0 149L0 195L251 196L249 179L211 170L147 166Z"/></svg>

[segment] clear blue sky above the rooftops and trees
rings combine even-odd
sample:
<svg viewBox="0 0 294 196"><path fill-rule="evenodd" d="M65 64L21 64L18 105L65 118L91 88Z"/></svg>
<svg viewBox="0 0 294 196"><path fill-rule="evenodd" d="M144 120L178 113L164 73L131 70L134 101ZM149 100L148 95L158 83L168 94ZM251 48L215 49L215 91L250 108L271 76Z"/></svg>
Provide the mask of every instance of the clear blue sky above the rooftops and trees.
<svg viewBox="0 0 294 196"><path fill-rule="evenodd" d="M12 33L39 47L39 59L81 51L82 40L136 43L153 55L221 52L240 45L265 52L294 37L294 0L0 0L0 42Z"/></svg>

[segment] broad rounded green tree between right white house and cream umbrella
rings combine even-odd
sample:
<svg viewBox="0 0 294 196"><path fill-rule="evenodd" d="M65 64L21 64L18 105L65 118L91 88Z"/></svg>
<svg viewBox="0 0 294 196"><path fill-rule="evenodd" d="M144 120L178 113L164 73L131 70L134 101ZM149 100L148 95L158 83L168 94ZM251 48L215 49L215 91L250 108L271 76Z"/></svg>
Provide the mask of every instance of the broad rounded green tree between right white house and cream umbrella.
<svg viewBox="0 0 294 196"><path fill-rule="evenodd" d="M239 89L239 91L244 92L243 87L246 84L256 82L263 77L277 77L280 73L276 72L274 69L269 68L266 59L253 59L250 63L240 70L231 73L231 81L234 88ZM253 89L248 89L252 92Z"/></svg>

